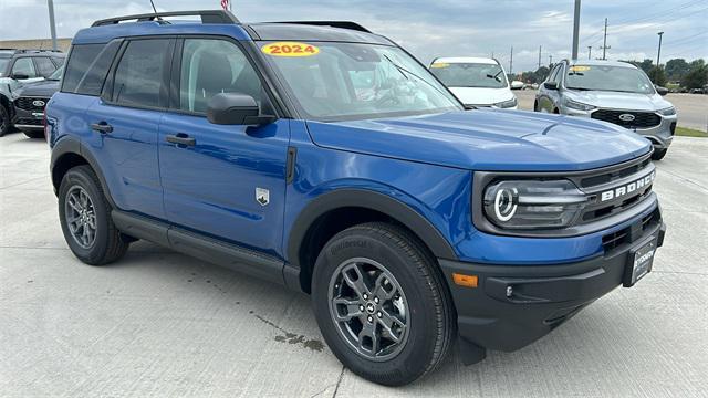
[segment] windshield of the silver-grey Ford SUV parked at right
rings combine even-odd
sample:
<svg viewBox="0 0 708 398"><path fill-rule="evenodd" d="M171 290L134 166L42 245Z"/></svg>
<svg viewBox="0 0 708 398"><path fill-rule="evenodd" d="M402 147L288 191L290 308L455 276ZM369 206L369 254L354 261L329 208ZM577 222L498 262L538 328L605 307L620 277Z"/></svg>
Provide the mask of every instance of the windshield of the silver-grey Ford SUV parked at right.
<svg viewBox="0 0 708 398"><path fill-rule="evenodd" d="M654 85L644 72L634 67L573 65L565 76L565 87L623 93L654 94Z"/></svg>

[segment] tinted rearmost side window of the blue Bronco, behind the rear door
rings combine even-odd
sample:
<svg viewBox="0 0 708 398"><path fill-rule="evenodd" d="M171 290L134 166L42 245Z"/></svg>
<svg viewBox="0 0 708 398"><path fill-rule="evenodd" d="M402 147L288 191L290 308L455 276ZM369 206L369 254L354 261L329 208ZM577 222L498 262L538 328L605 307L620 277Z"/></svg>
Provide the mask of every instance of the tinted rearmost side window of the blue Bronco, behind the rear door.
<svg viewBox="0 0 708 398"><path fill-rule="evenodd" d="M63 92L98 95L106 80L119 41L108 44L80 44L72 48L66 63Z"/></svg>

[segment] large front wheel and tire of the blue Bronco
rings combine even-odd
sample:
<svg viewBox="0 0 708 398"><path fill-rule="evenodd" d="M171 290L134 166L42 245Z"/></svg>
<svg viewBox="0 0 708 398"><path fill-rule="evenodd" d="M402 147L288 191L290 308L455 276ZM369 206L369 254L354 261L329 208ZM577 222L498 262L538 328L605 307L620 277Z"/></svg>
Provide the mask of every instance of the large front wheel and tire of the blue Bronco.
<svg viewBox="0 0 708 398"><path fill-rule="evenodd" d="M352 283L344 274L350 280L363 276ZM384 287L374 289L374 281ZM360 290L367 292L367 298L353 289L357 282L365 282ZM433 371L456 334L452 300L435 258L407 230L387 223L355 226L326 243L315 263L312 304L322 335L340 362L385 386L402 386ZM336 316L351 320L337 322ZM403 322L389 322L394 318ZM385 324L393 325L392 334L384 332ZM373 338L360 338L367 325L367 331L378 332L379 350L373 349ZM398 343L389 337L394 335Z"/></svg>

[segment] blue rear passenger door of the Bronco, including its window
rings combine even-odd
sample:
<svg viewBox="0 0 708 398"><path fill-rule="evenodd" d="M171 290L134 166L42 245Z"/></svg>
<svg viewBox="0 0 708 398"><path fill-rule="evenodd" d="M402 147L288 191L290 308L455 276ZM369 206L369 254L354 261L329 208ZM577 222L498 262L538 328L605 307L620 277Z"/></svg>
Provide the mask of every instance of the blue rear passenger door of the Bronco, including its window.
<svg viewBox="0 0 708 398"><path fill-rule="evenodd" d="M165 213L157 139L174 44L173 38L123 42L101 98L86 112L86 144L117 207L158 219Z"/></svg>

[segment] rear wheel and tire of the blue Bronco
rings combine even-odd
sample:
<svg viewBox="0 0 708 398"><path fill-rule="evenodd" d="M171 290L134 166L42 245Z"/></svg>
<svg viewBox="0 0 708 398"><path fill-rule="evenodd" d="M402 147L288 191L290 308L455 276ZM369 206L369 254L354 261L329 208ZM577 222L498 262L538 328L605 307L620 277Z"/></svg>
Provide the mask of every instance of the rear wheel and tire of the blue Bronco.
<svg viewBox="0 0 708 398"><path fill-rule="evenodd" d="M77 208L86 210L83 214L86 222L83 226L80 224L83 223L84 218L76 210ZM79 220L72 222L73 227L70 228L67 217ZM88 166L74 167L64 175L59 188L59 220L69 248L86 264L112 263L121 259L128 249L128 241L122 237L113 223L111 205L106 200L101 182ZM72 229L75 232L72 232ZM93 233L86 232L86 229L93 230Z"/></svg>

